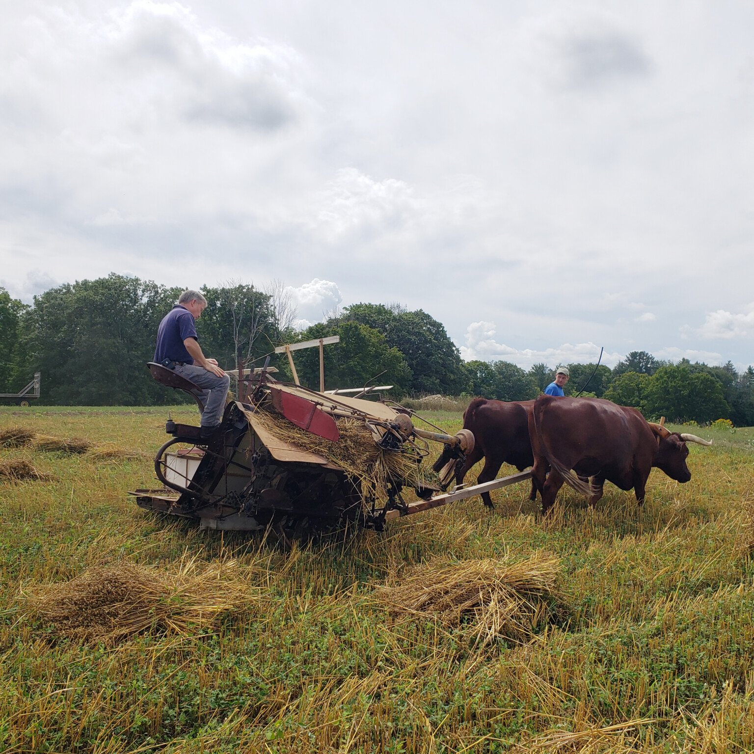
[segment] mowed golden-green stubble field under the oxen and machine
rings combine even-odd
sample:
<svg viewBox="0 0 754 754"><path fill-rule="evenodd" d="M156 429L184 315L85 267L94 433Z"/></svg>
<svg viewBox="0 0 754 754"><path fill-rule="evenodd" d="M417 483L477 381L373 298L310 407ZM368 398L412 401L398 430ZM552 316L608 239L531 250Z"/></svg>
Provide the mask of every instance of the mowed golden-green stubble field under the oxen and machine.
<svg viewBox="0 0 754 754"><path fill-rule="evenodd" d="M170 409L195 422L190 406ZM528 483L283 553L139 510L169 409L0 409L0 431L136 447L126 461L0 449L48 481L0 481L0 750L7 752L754 751L754 431L691 430L693 478L648 498L565 490L548 520ZM456 431L460 413L427 413ZM439 452L439 446L437 448ZM512 473L504 467L501 473ZM467 482L472 482L478 469ZM559 558L561 615L535 639L470 642L396 620L375 585L421 563ZM19 590L87 566L234 559L246 605L187 635L63 639ZM253 596L252 596L253 595Z"/></svg>

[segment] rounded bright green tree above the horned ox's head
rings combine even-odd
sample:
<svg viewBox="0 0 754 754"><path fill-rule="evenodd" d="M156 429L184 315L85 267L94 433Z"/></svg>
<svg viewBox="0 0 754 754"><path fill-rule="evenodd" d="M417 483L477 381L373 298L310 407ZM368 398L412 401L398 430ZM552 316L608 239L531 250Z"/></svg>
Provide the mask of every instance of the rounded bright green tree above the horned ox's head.
<svg viewBox="0 0 754 754"><path fill-rule="evenodd" d="M661 366L649 381L646 394L648 415L667 416L670 421L702 424L726 418L730 412L722 385L708 372L693 371L687 364Z"/></svg>

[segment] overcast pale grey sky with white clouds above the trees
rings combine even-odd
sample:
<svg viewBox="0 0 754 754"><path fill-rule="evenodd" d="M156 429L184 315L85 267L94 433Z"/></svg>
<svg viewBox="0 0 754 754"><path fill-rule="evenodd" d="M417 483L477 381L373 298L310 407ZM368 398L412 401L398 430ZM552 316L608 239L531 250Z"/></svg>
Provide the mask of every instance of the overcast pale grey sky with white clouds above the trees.
<svg viewBox="0 0 754 754"><path fill-rule="evenodd" d="M4 3L0 286L283 280L465 358L754 363L754 4Z"/></svg>

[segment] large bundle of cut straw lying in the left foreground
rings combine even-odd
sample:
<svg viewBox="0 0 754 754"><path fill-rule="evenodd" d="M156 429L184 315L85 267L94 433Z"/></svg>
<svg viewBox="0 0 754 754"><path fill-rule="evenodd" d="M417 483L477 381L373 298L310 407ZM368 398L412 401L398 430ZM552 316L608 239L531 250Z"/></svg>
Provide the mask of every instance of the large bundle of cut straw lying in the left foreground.
<svg viewBox="0 0 754 754"><path fill-rule="evenodd" d="M168 574L133 562L94 566L65 584L27 587L26 612L63 636L115 644L149 630L189 636L250 597L234 561L200 567L194 558Z"/></svg>

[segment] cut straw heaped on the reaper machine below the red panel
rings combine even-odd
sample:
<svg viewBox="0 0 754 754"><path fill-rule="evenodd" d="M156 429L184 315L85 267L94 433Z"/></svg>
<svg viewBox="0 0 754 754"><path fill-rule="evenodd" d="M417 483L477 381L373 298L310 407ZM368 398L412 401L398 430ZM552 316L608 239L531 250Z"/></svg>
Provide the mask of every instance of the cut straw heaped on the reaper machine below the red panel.
<svg viewBox="0 0 754 754"><path fill-rule="evenodd" d="M410 487L425 486L428 481L428 471L421 467L418 454L383 450L360 419L337 418L340 439L333 443L297 427L277 412L259 411L254 418L275 437L317 453L341 467L349 477L360 482L363 501L384 500L391 480Z"/></svg>

